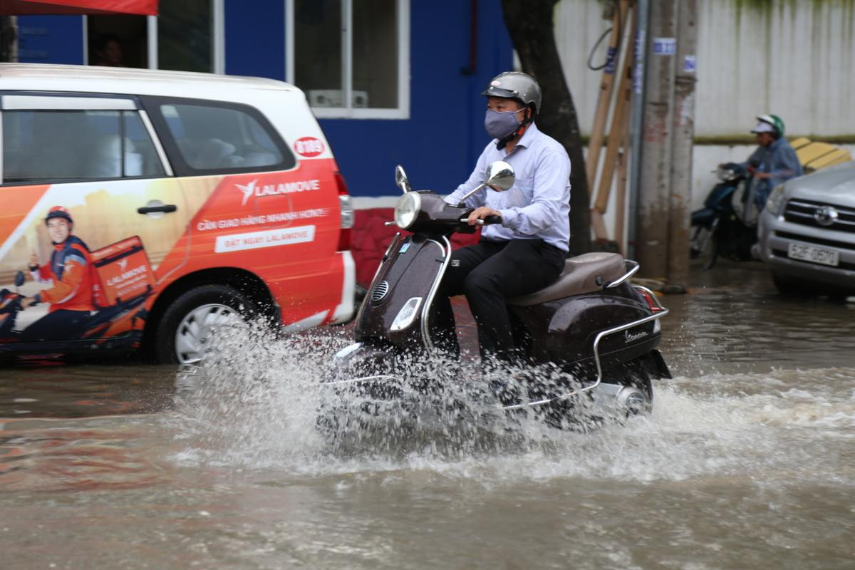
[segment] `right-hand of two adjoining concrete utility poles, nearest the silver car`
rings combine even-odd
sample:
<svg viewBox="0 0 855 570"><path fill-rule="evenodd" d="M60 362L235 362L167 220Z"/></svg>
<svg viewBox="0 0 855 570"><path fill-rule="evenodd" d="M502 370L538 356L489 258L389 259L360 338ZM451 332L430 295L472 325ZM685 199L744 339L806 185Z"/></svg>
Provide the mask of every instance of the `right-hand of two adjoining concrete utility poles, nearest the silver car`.
<svg viewBox="0 0 855 570"><path fill-rule="evenodd" d="M698 45L698 0L681 0L677 18L674 86L674 135L671 160L668 271L665 281L683 289L689 280L689 200L692 195L692 147L695 107L695 50Z"/></svg>

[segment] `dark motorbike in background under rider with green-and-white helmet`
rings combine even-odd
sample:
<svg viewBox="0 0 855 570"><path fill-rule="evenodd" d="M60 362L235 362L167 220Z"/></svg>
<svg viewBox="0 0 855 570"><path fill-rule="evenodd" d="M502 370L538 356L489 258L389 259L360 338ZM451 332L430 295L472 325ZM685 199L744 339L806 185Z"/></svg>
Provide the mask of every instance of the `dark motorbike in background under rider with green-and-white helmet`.
<svg viewBox="0 0 855 570"><path fill-rule="evenodd" d="M719 256L733 261L752 259L757 243L757 209L752 200L752 167L728 162L716 170L719 183L706 197L704 208L692 213L689 255L705 259L704 269Z"/></svg>

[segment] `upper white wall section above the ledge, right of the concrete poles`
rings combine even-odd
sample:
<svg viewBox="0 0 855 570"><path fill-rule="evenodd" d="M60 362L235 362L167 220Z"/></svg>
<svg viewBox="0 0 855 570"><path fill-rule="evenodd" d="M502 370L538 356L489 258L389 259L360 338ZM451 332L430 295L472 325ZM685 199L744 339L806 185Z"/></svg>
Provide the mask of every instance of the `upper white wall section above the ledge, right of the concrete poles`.
<svg viewBox="0 0 855 570"><path fill-rule="evenodd" d="M700 135L774 113L793 135L855 136L855 3L699 0Z"/></svg>

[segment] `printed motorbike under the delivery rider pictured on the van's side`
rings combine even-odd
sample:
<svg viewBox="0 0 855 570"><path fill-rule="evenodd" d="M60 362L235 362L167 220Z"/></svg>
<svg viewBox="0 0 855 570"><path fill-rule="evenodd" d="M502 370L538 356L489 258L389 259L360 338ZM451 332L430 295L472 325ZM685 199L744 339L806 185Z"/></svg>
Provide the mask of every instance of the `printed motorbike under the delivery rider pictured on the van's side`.
<svg viewBox="0 0 855 570"><path fill-rule="evenodd" d="M51 350L51 348L56 348L57 351L60 351L60 348L68 350L69 346L71 346L70 344L80 342L91 345L92 341L113 337L115 330L125 330L127 328L131 329L131 332L129 332L130 335L139 337L141 334L139 328L133 326L133 323L131 326L127 326L126 321L144 320L146 318L147 312L143 305L151 292L150 290L144 291L135 297L121 299L115 305L98 308L84 322L80 323L82 331L78 340L42 341L27 338L26 329L18 330L16 328L17 316L24 309L21 306L21 301L24 297L18 292L18 288L23 284L24 273L19 271L15 273L15 291L9 291L9 289L0 290L0 352L4 350ZM120 342L127 344L127 338L121 339ZM109 341L109 344L111 343L112 341ZM51 347L50 344L56 344L56 347ZM109 348L109 346L104 346L104 348Z"/></svg>

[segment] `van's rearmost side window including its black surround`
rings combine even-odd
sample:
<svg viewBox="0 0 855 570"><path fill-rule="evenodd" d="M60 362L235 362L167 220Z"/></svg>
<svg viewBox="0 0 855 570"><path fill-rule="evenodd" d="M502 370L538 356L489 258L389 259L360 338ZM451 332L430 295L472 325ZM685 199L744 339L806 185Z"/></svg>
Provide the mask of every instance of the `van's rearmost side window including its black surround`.
<svg viewBox="0 0 855 570"><path fill-rule="evenodd" d="M296 164L256 109L231 103L146 99L155 103L146 107L153 111L158 132L165 132L161 138L178 174L287 170Z"/></svg>

